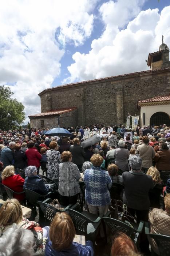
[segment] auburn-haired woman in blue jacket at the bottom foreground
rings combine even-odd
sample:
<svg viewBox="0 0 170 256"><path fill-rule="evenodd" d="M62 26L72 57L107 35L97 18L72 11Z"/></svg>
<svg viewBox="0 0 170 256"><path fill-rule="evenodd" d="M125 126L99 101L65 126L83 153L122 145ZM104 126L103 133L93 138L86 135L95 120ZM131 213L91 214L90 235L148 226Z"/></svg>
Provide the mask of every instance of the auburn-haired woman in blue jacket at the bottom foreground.
<svg viewBox="0 0 170 256"><path fill-rule="evenodd" d="M93 244L73 242L76 231L70 215L57 212L50 224L50 240L47 240L45 256L93 256Z"/></svg>

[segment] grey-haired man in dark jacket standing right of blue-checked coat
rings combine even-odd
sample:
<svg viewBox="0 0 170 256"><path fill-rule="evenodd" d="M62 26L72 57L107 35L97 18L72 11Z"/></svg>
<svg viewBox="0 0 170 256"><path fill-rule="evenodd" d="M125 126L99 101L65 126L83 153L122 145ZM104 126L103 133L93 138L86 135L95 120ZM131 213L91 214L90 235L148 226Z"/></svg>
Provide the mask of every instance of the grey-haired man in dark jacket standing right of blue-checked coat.
<svg viewBox="0 0 170 256"><path fill-rule="evenodd" d="M135 216L137 223L147 221L150 207L149 190L154 188L151 176L141 171L142 159L134 155L129 161L131 171L123 172L121 183L124 185L123 203Z"/></svg>

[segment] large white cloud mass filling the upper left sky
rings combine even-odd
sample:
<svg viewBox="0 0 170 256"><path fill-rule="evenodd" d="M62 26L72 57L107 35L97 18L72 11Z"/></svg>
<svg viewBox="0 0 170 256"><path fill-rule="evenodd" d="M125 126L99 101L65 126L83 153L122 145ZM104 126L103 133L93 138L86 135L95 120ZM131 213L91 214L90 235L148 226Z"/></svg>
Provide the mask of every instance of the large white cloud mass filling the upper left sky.
<svg viewBox="0 0 170 256"><path fill-rule="evenodd" d="M60 74L69 42L82 45L91 35L98 0L6 0L0 8L0 85L23 102L26 116L40 112L37 94Z"/></svg>

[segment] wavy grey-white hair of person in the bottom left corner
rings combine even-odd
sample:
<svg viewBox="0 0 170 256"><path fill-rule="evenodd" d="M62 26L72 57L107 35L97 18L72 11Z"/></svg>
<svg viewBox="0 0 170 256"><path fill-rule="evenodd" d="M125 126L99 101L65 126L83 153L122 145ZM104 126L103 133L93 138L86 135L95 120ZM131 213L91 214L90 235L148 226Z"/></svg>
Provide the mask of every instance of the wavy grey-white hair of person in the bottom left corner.
<svg viewBox="0 0 170 256"><path fill-rule="evenodd" d="M34 246L33 233L14 223L0 237L0 256L32 256Z"/></svg>

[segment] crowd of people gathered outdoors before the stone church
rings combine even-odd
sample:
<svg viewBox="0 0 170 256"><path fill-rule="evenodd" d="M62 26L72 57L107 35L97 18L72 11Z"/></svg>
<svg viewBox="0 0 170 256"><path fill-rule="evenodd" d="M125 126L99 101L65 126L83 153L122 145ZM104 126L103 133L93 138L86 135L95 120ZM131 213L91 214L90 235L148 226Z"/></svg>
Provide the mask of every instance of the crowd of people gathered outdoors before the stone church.
<svg viewBox="0 0 170 256"><path fill-rule="evenodd" d="M76 231L66 212L57 213L50 227L41 227L23 218L20 205L25 200L24 189L46 198L58 198L63 206L74 205L81 192L80 182L86 185L86 210L90 213L104 216L114 199L112 184L121 184L123 203L137 224L149 221L151 233L170 236L170 177L166 185L160 177L161 172L170 172L170 127L148 125L126 131L121 124L96 124L68 127L70 137L51 137L46 135L47 130L0 130L0 186L5 200L0 207L0 255L29 256L44 251L47 256L93 255L91 241L86 241L86 245L73 242ZM98 142L81 146L95 136ZM59 180L58 190L51 191L49 184L43 182L40 168L51 180ZM16 174L17 169L23 170L26 177ZM7 199L3 185L15 192L14 199ZM159 202L160 188L166 194L165 209ZM153 197L158 197L156 203ZM9 239L11 234L13 240ZM149 242L160 255L154 240ZM149 255L145 234L141 235L140 251ZM120 233L114 239L111 255L140 254L133 241Z"/></svg>

